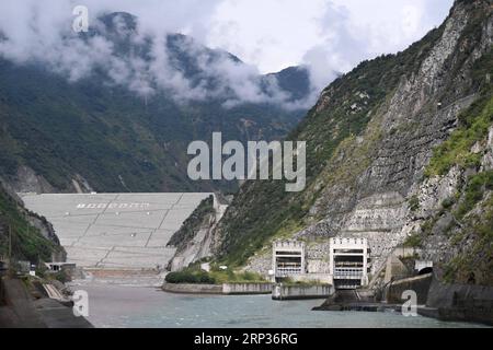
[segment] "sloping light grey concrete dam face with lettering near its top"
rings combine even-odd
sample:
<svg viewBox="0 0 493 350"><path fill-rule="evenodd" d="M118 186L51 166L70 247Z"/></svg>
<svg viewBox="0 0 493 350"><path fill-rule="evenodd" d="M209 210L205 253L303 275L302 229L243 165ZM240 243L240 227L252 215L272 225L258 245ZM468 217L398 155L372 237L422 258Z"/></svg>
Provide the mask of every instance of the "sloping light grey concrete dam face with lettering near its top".
<svg viewBox="0 0 493 350"><path fill-rule="evenodd" d="M26 208L53 223L67 261L84 268L162 268L167 247L211 194L22 195Z"/></svg>

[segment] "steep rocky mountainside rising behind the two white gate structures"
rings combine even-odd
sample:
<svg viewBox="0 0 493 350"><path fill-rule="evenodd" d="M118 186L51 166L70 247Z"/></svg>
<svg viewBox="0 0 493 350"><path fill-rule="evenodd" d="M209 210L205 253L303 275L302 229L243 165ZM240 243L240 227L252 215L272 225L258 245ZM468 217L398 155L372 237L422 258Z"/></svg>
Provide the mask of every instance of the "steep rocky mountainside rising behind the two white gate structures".
<svg viewBox="0 0 493 350"><path fill-rule="evenodd" d="M288 140L307 141L307 187L246 182L214 232L217 260L267 273L271 243L311 254L364 237L378 279L397 246L447 281L493 284L491 2L458 0L439 27L330 84Z"/></svg>

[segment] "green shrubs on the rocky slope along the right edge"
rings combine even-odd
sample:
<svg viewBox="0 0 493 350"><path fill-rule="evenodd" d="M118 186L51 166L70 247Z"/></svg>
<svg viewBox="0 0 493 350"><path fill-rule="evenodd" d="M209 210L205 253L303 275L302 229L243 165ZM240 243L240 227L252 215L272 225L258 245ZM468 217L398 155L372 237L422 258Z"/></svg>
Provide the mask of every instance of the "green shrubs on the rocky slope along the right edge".
<svg viewBox="0 0 493 350"><path fill-rule="evenodd" d="M481 16L475 13L462 36L481 35ZM470 49L461 50L458 59L466 59ZM406 242L409 246L420 246L432 232L448 240L456 255L443 265L446 282L493 285L493 171L477 173L483 153L472 150L475 144L484 144L493 125L493 86L489 81L492 65L491 50L475 61L472 79L479 98L459 115L458 128L434 150L425 170L425 176L436 176L459 166L473 175L465 178L456 196L445 199L442 209L422 224L422 232ZM438 230L435 225L445 215L449 215L451 222Z"/></svg>

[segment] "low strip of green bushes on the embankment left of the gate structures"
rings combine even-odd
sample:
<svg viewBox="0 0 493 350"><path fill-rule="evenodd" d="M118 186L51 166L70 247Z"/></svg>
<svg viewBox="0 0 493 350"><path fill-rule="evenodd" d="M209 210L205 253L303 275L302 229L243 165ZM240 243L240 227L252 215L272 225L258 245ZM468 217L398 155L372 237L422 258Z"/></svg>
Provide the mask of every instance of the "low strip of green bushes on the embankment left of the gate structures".
<svg viewBox="0 0 493 350"><path fill-rule="evenodd" d="M221 270L214 267L210 272L200 270L197 265L182 271L170 272L165 277L168 283L222 284L222 283L263 283L265 279L254 272L237 272L232 269Z"/></svg>

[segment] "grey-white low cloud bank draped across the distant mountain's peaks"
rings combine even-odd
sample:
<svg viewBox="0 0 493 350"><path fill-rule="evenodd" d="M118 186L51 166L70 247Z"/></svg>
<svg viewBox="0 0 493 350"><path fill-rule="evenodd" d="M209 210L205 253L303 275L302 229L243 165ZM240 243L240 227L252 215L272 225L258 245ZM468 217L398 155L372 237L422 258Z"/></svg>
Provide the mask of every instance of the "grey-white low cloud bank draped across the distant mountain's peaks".
<svg viewBox="0 0 493 350"><path fill-rule="evenodd" d="M190 8L182 4L179 16L185 16L192 8L204 8L199 1L185 2ZM226 107L245 102L300 107L289 102L290 96L275 82L261 84L261 74L255 67L233 59L226 51L211 51L185 36L173 38L173 45L177 46L173 51L168 34L176 32L176 25L182 22L171 13L167 14L162 3L154 2L161 12L146 10L148 8L139 10L135 2L128 4L121 3L125 10L141 15L136 18L136 27L123 14L113 18L110 24L99 22L95 18L107 8L94 3L90 8L90 25L95 32L85 37L71 30L72 8L67 2L48 0L43 7L36 1L24 1L21 5L2 4L0 31L7 39L0 42L0 55L21 65L43 62L72 82L91 77L98 68L107 75L107 83L125 85L142 97L167 91L176 102L226 97ZM153 22L157 20L154 13L165 13L164 19L173 19L174 23L158 25ZM12 18L18 21L10 21ZM202 21L185 25L183 32L186 27L195 31L199 23ZM118 47L122 40L127 40L134 49L122 51ZM186 57L175 57L183 55ZM186 61L187 58L193 58L193 62ZM187 77L190 67L180 67L181 60L185 60L185 66L195 65L198 71ZM215 84L211 85L211 81Z"/></svg>

